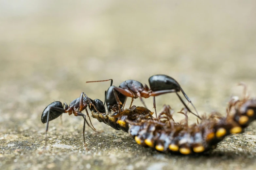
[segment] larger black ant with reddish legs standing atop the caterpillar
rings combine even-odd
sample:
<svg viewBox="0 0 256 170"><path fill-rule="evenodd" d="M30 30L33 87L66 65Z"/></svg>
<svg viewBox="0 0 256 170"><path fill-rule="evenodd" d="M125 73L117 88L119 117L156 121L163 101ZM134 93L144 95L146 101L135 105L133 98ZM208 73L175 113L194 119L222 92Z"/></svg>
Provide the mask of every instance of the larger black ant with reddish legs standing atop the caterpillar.
<svg viewBox="0 0 256 170"><path fill-rule="evenodd" d="M109 80L111 80L111 86L109 87L108 91L110 90L109 93L113 94L115 99L116 99L115 102L112 100L112 104L117 104L118 107L119 107L119 111L120 112L121 112L120 106L122 106L123 102L126 101L126 98L124 96L132 98L130 107L132 105L132 102L133 102L134 98L138 98L138 97L140 98L140 100L143 103L143 105L146 107L145 102L142 99L142 97L148 98L150 96L153 96L153 106L154 106L155 113L156 113L155 96L158 96L158 95L161 95L161 94L165 94L165 93L175 92L177 94L177 96L179 97L179 100L187 108L187 110L189 112L191 112L192 114L194 114L199 119L201 119L199 117L198 113L197 113L196 107L192 104L191 100L188 98L186 93L180 87L179 83L174 78L171 78L171 77L169 77L167 75L154 75L154 76L151 76L148 79L150 88L146 84L145 84L145 86L143 86L142 83L140 83L139 81L136 81L136 80L126 80L126 81L123 81L119 85L119 87L115 87L115 86L112 86L113 80L112 79L109 79ZM87 81L87 83L88 82L100 82L100 81L108 81L108 80ZM106 96L106 93L108 93L108 91L105 92L105 96ZM188 108L188 106L185 104L185 102L182 100L182 98L178 94L178 92L180 92L180 91L183 93L183 95L185 96L187 101L192 104L192 106L196 110L197 115L195 113L193 113ZM119 92L119 93L116 94L116 92ZM121 96L123 101L120 100L119 96ZM106 101L106 98L107 97L105 97L105 101ZM113 97L112 97L112 99L113 99ZM107 106L108 106L108 104L107 104ZM124 107L124 105L123 105L123 107ZM109 109L109 107L108 107L108 109Z"/></svg>

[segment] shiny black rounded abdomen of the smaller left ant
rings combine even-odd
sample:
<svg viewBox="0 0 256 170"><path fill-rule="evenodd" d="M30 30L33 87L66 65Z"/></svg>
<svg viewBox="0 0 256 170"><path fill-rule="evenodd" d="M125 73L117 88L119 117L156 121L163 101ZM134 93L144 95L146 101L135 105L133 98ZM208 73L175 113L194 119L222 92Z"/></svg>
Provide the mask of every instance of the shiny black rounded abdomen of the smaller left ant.
<svg viewBox="0 0 256 170"><path fill-rule="evenodd" d="M43 110L42 116L41 116L42 123L46 123L47 115L48 115L49 111L50 111L49 121L58 118L63 113L60 110L57 110L56 108L60 108L60 110L63 109L62 103L59 101L55 101L55 102L51 103L50 105L48 105L47 107L45 107L45 109Z"/></svg>

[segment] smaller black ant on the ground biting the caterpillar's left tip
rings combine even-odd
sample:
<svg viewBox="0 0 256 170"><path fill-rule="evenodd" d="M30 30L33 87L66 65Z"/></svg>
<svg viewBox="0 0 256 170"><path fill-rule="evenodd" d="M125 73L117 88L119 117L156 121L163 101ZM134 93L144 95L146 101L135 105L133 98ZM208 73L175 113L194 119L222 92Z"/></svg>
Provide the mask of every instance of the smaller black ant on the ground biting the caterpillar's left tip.
<svg viewBox="0 0 256 170"><path fill-rule="evenodd" d="M85 97L83 97L83 95ZM55 102L49 104L43 110L43 113L41 116L42 123L46 123L45 145L46 145L46 141L47 141L47 131L48 131L49 121L58 118L60 115L62 115L62 113L68 113L69 115L72 115L72 113L73 113L75 116L83 116L83 118L84 118L83 137L84 137L84 144L85 144L85 136L84 136L85 123L87 123L90 128L92 128L94 131L96 131L96 129L94 128L94 126L91 122L89 114L88 114L88 110L87 110L88 105L90 105L89 109L91 111L102 112L102 113L106 112L103 102L101 100L99 100L99 99L92 100L84 92L81 93L80 97L73 100L69 106L65 102L62 105L62 103L60 101L55 101ZM103 105L103 107L102 107L102 105ZM91 107L91 106L93 106L93 107ZM86 111L87 117L89 117L92 127L89 125L89 123L85 119L85 115L83 113L81 113L83 110Z"/></svg>

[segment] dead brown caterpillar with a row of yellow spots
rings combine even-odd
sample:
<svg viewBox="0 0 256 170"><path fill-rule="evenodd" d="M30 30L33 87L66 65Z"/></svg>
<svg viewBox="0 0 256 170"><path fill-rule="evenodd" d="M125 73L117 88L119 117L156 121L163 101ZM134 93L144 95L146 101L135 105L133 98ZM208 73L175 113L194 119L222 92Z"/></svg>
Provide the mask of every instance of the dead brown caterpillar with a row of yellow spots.
<svg viewBox="0 0 256 170"><path fill-rule="evenodd" d="M180 113L187 120L186 112L184 109ZM139 145L187 155L214 149L227 135L243 132L256 119L256 99L232 98L225 117L215 112L208 118L203 116L198 124L175 122L173 113L170 106L164 105L158 118L153 118L153 112L145 107L132 106L121 112L112 110L110 114L92 111L92 117L129 133Z"/></svg>

